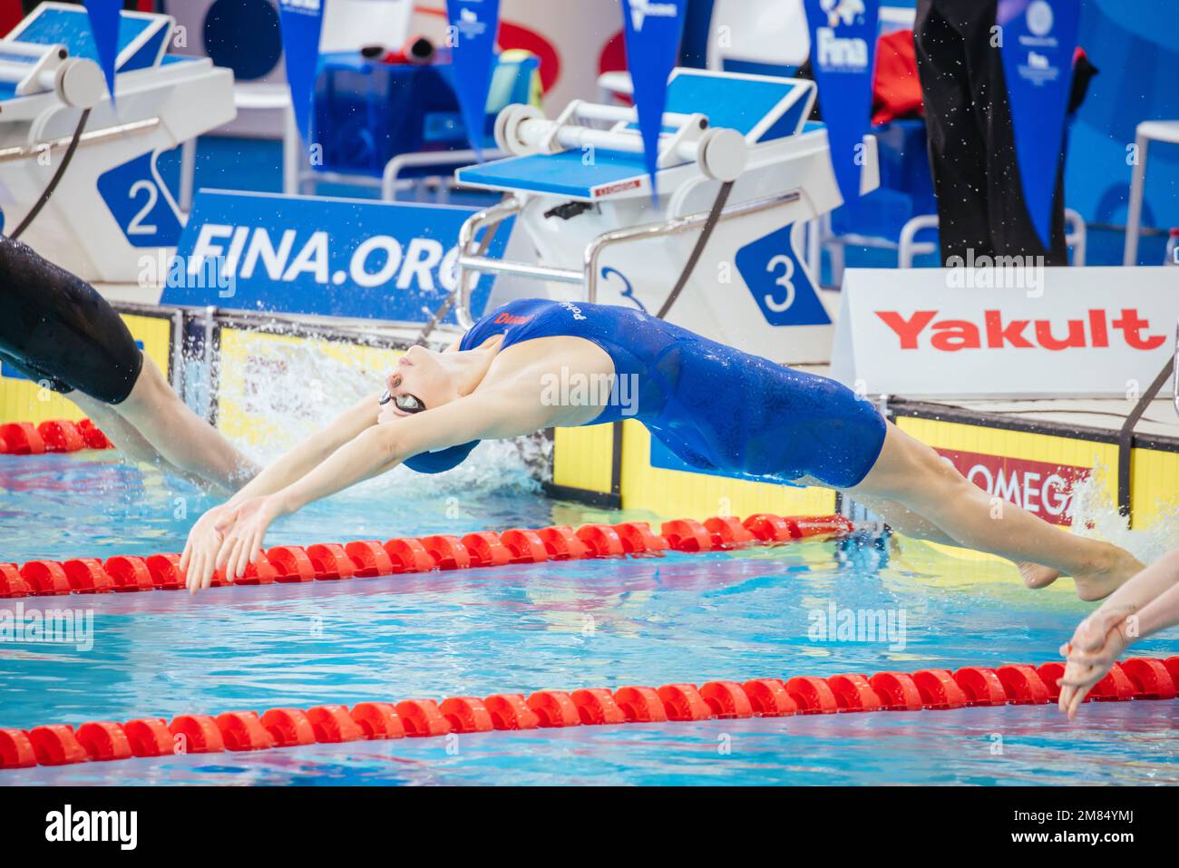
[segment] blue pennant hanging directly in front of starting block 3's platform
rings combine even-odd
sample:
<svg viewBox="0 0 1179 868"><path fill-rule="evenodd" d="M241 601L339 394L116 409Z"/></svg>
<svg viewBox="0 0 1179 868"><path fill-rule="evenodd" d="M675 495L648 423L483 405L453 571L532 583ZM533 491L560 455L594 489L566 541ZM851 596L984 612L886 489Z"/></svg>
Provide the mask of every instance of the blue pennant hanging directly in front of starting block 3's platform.
<svg viewBox="0 0 1179 868"><path fill-rule="evenodd" d="M652 197L657 192L656 170L659 133L663 132L663 114L667 104L667 77L679 57L686 1L621 0L626 65L634 83L634 106L639 114Z"/></svg>

